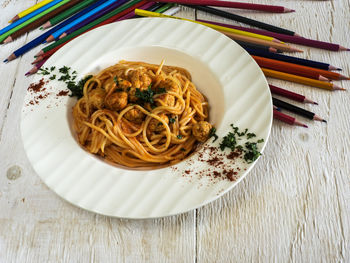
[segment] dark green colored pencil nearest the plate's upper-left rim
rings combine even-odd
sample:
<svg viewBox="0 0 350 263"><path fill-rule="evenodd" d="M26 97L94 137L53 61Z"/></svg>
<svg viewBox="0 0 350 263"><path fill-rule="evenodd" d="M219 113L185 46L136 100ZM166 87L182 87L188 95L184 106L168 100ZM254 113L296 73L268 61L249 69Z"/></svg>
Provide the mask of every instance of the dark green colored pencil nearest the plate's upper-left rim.
<svg viewBox="0 0 350 263"><path fill-rule="evenodd" d="M82 28L79 28L78 30L74 31L73 33L61 38L60 40L56 41L55 43L47 46L47 47L44 47L42 49L42 51L45 53L69 40L71 40L72 38L84 33L85 31L89 30L90 28L100 24L101 22L107 20L108 18L122 12L123 10L137 4L138 2L141 2L141 0L133 0L133 1L130 1L124 5L122 5L121 7L118 7L117 9L114 9L112 12L108 13L108 14L105 14L104 16L100 17L99 19L96 19L95 21L91 22L90 24L87 24L86 26L83 26Z"/></svg>

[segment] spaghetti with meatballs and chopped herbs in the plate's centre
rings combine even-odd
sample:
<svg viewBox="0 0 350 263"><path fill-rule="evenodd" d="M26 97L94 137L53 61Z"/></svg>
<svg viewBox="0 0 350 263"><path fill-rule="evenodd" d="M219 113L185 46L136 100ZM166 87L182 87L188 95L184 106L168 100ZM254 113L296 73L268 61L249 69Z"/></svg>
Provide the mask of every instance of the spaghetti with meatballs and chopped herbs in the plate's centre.
<svg viewBox="0 0 350 263"><path fill-rule="evenodd" d="M89 152L127 167L174 164L205 142L206 98L180 67L120 61L92 76L73 107Z"/></svg>

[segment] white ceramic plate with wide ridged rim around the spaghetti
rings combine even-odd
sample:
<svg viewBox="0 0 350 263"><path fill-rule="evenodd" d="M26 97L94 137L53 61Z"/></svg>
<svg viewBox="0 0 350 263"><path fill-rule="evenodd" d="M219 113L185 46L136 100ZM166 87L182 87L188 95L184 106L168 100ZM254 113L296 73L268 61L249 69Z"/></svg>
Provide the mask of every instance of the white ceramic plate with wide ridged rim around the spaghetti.
<svg viewBox="0 0 350 263"><path fill-rule="evenodd" d="M79 76L96 73L119 60L145 61L184 67L211 106L210 118L222 137L230 124L263 138L272 123L271 94L261 70L235 42L195 23L141 18L100 27L56 52L45 66L67 65ZM35 82L41 79L37 76ZM30 105L37 94L28 92L21 132L30 162L41 179L68 202L96 213L122 218L155 218L183 213L207 204L232 189L254 166L202 148L168 168L140 171L109 165L85 152L71 131L75 99L56 94L64 89L50 82L47 97ZM207 143L206 146L219 143ZM233 170L237 180L215 179Z"/></svg>

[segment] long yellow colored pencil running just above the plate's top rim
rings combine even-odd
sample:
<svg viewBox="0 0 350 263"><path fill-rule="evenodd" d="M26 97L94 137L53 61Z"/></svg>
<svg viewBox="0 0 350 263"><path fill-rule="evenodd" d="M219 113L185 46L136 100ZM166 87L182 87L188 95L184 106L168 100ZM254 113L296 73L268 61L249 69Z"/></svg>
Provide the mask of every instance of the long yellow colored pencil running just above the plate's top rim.
<svg viewBox="0 0 350 263"><path fill-rule="evenodd" d="M283 42L281 42L278 39L275 39L273 37L268 37L268 36L264 36L264 35L260 35L260 34L250 33L250 32L237 30L237 29L233 29L233 28L228 28L228 27L224 27L224 26L218 26L218 25L213 25L213 24L209 24L209 23L199 22L199 21L195 21L195 20L191 20L191 19L187 19L187 18L182 18L182 17L168 16L168 15L164 15L161 13L155 13L155 12L146 11L146 10L142 10L142 9L135 9L135 15L147 16L147 17L166 17L166 18L180 19L180 20L185 20L185 21L190 21L190 22L194 22L197 24L201 24L201 25L204 25L204 26L207 26L207 27L210 27L212 29L219 30L219 31L234 33L234 34L238 34L238 35L242 35L242 36L254 37L254 38L267 40L267 41L271 41L271 42L283 43Z"/></svg>

